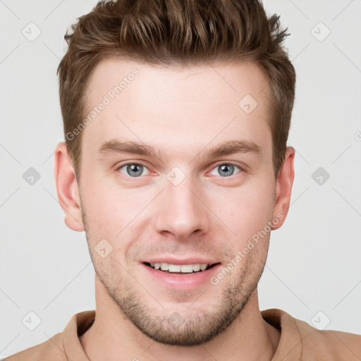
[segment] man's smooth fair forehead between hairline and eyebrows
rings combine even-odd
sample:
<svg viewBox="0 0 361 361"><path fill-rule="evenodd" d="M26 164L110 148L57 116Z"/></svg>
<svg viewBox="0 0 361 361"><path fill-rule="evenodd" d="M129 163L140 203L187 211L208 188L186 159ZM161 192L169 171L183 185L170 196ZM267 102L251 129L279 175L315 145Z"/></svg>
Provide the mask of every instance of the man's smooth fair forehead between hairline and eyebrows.
<svg viewBox="0 0 361 361"><path fill-rule="evenodd" d="M238 139L271 147L267 80L254 63L169 68L106 59L88 88L85 117L94 118L82 143L93 155L115 137L193 154L195 145Z"/></svg>

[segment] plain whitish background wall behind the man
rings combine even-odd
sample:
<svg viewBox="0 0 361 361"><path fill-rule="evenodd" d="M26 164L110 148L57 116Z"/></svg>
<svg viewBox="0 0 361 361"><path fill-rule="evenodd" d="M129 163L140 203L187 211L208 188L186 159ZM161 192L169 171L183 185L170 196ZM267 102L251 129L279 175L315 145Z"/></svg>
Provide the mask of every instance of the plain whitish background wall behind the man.
<svg viewBox="0 0 361 361"><path fill-rule="evenodd" d="M46 341L95 307L85 233L64 224L54 182L54 150L64 139L56 78L63 35L94 4L0 1L0 357ZM297 154L288 219L271 233L259 283L260 309L361 334L361 3L265 7L291 33L286 47L298 81L288 144ZM40 177L33 185L23 178L30 167ZM29 312L41 320L34 331L22 322Z"/></svg>

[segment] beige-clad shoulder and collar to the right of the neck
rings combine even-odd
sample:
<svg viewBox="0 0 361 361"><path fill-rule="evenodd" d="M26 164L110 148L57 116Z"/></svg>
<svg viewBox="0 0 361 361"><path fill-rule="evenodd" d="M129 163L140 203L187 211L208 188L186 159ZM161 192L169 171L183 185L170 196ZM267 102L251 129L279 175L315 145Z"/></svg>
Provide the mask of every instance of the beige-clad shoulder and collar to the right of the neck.
<svg viewBox="0 0 361 361"><path fill-rule="evenodd" d="M281 331L276 355L286 357L284 361L290 355L289 360L361 360L360 335L320 330L279 309L264 310L262 317Z"/></svg>

